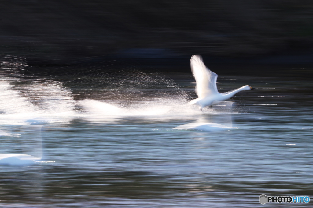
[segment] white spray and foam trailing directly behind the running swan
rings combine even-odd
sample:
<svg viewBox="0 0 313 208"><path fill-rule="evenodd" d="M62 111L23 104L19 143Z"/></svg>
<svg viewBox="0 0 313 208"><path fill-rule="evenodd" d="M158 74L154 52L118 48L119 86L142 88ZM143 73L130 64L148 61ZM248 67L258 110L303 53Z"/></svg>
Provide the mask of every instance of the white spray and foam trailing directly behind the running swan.
<svg viewBox="0 0 313 208"><path fill-rule="evenodd" d="M90 119L229 113L218 108L206 108L201 112L198 106L188 105L191 95L160 74L123 71L106 74L102 79L103 82L97 77L99 84L85 91L87 99L77 102Z"/></svg>

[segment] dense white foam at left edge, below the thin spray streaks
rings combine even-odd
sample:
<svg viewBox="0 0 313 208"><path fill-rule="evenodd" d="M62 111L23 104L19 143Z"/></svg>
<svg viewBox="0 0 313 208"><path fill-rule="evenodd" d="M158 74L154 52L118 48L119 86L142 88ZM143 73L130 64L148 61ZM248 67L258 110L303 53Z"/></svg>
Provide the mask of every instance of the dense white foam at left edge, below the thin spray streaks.
<svg viewBox="0 0 313 208"><path fill-rule="evenodd" d="M25 124L31 120L51 123L77 114L71 91L62 83L40 80L27 84L0 80L0 124Z"/></svg>

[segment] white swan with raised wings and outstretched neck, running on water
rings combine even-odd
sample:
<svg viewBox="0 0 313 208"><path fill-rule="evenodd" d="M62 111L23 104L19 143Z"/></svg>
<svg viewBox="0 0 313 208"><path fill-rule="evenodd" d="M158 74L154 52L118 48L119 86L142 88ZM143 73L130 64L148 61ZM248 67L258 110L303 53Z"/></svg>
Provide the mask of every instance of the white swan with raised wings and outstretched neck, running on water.
<svg viewBox="0 0 313 208"><path fill-rule="evenodd" d="M227 100L240 91L254 89L249 85L244 85L243 87L233 89L229 92L219 93L216 86L218 75L204 65L200 55L193 55L191 57L190 66L196 80L196 93L198 98L191 100L188 104L199 105L201 111L204 107L218 104L218 101Z"/></svg>

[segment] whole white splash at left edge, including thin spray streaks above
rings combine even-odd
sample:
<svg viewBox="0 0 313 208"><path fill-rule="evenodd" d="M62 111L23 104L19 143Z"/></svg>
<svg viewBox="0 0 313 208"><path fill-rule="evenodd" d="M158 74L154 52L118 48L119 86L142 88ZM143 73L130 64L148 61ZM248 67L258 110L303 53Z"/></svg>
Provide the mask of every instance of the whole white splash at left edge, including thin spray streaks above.
<svg viewBox="0 0 313 208"><path fill-rule="evenodd" d="M59 81L25 76L25 60L0 55L0 124L27 124L36 117L68 120L76 114L69 88Z"/></svg>

